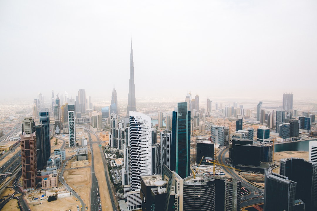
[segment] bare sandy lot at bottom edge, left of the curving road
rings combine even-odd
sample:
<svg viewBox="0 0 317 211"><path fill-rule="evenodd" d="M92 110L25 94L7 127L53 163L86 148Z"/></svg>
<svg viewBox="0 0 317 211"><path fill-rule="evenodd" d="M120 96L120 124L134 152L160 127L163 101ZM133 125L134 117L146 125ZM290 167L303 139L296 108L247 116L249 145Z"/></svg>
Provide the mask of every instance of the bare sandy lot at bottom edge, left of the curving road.
<svg viewBox="0 0 317 211"><path fill-rule="evenodd" d="M33 204L38 204L42 202L42 204L33 206ZM56 201L48 202L47 200L42 200L39 202L29 203L29 207L32 211L68 211L68 210L77 210L77 205L80 206L80 203L77 201L75 197L65 197L58 198Z"/></svg>

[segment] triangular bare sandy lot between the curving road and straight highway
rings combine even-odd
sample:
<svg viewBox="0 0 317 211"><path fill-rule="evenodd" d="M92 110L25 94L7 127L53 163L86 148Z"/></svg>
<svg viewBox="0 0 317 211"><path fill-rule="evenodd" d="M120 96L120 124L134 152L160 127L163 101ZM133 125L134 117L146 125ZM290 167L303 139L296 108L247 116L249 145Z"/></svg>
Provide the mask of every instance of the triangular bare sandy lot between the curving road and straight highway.
<svg viewBox="0 0 317 211"><path fill-rule="evenodd" d="M91 168L70 169L64 171L63 176L67 181L66 183L74 189L86 203L86 206L90 208Z"/></svg>

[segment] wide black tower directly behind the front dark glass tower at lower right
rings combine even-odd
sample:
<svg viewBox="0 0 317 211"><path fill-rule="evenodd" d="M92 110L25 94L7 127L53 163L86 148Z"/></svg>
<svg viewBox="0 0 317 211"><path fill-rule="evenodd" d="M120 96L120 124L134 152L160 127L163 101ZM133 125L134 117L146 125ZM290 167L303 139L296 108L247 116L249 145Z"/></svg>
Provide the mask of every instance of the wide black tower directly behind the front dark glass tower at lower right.
<svg viewBox="0 0 317 211"><path fill-rule="evenodd" d="M306 211L317 210L317 164L303 158L281 159L280 174L296 182L295 199L305 203Z"/></svg>

